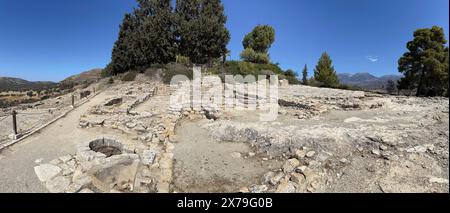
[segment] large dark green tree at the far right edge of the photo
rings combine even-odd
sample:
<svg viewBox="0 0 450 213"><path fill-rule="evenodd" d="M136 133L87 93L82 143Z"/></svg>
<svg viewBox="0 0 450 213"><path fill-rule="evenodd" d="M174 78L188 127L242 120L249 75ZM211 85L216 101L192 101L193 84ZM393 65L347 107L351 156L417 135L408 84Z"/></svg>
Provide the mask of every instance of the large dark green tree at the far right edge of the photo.
<svg viewBox="0 0 450 213"><path fill-rule="evenodd" d="M399 59L404 77L399 89L416 89L416 96L443 95L448 91L448 47L441 27L418 29L407 44L408 51Z"/></svg>

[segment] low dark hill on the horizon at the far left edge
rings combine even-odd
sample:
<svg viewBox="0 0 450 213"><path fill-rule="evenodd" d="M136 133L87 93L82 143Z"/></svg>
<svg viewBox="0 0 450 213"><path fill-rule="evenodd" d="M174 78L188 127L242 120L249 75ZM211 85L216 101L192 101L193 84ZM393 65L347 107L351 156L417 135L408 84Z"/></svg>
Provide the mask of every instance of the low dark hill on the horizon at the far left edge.
<svg viewBox="0 0 450 213"><path fill-rule="evenodd" d="M56 86L57 83L50 81L31 82L21 78L0 77L0 91L12 90L38 90Z"/></svg>

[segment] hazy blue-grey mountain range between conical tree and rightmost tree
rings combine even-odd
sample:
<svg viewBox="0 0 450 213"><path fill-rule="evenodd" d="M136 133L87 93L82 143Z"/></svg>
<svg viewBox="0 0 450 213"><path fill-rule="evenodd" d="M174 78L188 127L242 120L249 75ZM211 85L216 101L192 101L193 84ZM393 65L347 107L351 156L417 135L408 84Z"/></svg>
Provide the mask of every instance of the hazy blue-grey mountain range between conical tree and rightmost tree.
<svg viewBox="0 0 450 213"><path fill-rule="evenodd" d="M338 78L342 84L358 86L364 89L383 89L386 88L386 84L389 80L397 83L402 76L400 75L384 75L381 77L376 77L370 73L341 73L338 74Z"/></svg>

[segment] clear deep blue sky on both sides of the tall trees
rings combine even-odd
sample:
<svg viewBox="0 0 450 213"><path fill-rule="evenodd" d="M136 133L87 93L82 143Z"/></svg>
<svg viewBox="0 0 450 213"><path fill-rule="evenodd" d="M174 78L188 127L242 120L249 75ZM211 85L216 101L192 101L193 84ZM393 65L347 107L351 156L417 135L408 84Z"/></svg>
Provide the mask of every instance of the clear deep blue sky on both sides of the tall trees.
<svg viewBox="0 0 450 213"><path fill-rule="evenodd" d="M338 72L398 74L417 28L449 33L448 0L223 0L232 59L257 24L276 30L273 62L312 72L327 51ZM110 60L135 0L0 0L0 76L59 81Z"/></svg>

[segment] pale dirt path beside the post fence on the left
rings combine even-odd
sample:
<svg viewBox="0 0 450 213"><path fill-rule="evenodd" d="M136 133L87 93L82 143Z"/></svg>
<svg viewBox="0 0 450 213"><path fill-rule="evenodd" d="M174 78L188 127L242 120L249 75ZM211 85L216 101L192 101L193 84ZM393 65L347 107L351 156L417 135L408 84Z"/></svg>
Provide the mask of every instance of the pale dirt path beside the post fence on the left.
<svg viewBox="0 0 450 213"><path fill-rule="evenodd" d="M49 161L76 151L78 143L98 137L98 132L78 127L80 116L110 94L102 93L41 132L0 152L0 192L46 192L33 167L37 159Z"/></svg>

